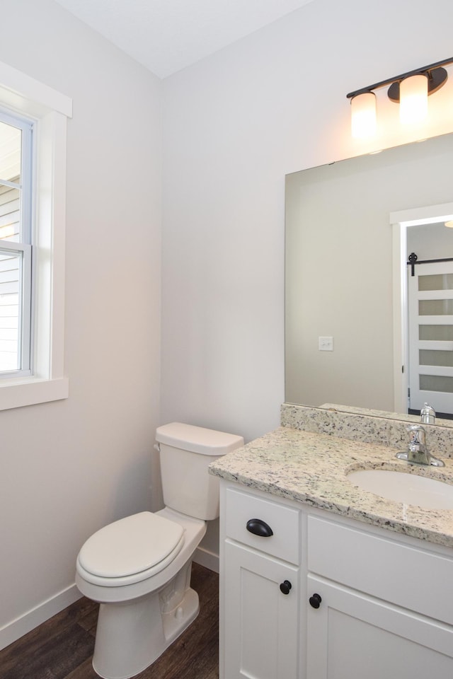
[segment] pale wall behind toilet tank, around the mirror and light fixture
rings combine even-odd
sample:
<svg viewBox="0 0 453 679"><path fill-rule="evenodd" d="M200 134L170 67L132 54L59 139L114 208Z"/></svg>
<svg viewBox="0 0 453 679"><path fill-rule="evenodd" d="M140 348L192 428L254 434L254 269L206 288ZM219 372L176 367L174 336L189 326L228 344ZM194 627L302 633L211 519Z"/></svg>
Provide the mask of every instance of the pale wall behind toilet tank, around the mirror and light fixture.
<svg viewBox="0 0 453 679"><path fill-rule="evenodd" d="M447 58L452 19L451 0L315 0L164 81L164 422L279 424L285 174L368 150L346 93Z"/></svg>

